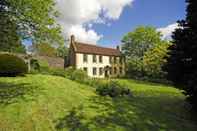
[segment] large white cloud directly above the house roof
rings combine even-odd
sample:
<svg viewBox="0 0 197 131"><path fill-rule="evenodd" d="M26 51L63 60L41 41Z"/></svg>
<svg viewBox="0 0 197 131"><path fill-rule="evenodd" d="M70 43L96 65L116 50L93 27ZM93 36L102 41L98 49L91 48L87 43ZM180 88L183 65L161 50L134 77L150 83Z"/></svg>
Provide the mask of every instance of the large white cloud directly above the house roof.
<svg viewBox="0 0 197 131"><path fill-rule="evenodd" d="M96 43L102 34L92 29L94 23L109 24L107 20L117 20L124 7L134 0L56 0L60 12L57 19L67 38L74 34L83 42Z"/></svg>

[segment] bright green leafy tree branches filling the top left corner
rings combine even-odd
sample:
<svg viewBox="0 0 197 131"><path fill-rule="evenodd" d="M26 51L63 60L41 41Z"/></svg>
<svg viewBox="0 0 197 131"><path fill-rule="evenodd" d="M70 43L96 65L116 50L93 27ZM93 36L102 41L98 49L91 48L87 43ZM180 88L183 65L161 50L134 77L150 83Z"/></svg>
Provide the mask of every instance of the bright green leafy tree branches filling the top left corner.
<svg viewBox="0 0 197 131"><path fill-rule="evenodd" d="M58 13L54 5L54 0L1 0L0 9L1 14L16 26L22 40L31 38L34 43L63 44L60 26L55 21ZM1 20L0 25L6 26L6 23ZM0 32L1 37L7 37L2 30Z"/></svg>

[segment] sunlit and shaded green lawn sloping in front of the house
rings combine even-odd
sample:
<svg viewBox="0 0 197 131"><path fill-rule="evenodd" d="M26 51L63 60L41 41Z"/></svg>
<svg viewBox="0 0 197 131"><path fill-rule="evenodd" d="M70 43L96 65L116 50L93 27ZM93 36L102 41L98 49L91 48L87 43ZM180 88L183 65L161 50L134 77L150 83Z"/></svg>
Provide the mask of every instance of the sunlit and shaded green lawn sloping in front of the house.
<svg viewBox="0 0 197 131"><path fill-rule="evenodd" d="M111 99L62 77L0 78L0 131L196 131L180 90L119 80L133 97Z"/></svg>

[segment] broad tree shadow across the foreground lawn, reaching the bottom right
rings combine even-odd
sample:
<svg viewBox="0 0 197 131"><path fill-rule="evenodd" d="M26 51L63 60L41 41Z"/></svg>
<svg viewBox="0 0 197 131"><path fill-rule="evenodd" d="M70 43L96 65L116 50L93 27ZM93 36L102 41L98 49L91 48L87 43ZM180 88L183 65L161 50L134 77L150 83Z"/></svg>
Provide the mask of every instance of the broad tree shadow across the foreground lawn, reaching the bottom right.
<svg viewBox="0 0 197 131"><path fill-rule="evenodd" d="M56 129L70 131L196 131L197 126L182 100L161 97L121 97L111 99L95 96L90 108L97 114L88 118L85 108L73 108L58 120ZM88 113L88 112L87 112ZM86 114L87 114L86 113ZM194 117L194 116L193 116Z"/></svg>

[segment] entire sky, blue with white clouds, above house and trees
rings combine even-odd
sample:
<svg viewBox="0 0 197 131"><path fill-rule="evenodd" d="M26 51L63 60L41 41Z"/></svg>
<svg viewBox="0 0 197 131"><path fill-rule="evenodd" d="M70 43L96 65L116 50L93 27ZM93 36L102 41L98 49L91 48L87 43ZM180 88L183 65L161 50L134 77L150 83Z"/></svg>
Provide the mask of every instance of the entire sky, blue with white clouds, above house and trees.
<svg viewBox="0 0 197 131"><path fill-rule="evenodd" d="M77 41L115 47L138 26L153 26L170 38L185 18L185 0L55 0L62 35ZM26 42L28 43L28 41Z"/></svg>

